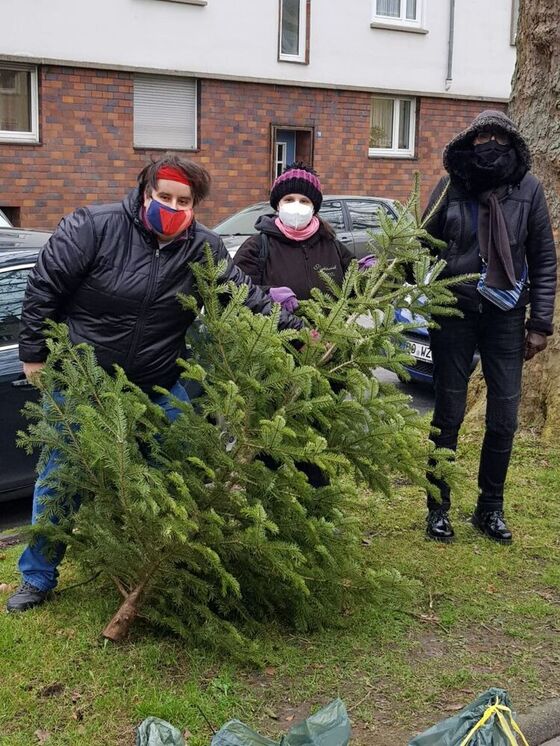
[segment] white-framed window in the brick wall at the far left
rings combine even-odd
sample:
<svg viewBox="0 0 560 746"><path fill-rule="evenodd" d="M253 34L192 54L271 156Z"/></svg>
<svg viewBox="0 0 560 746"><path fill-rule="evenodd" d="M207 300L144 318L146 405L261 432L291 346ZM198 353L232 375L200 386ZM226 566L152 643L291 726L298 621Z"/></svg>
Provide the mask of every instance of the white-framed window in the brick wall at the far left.
<svg viewBox="0 0 560 746"><path fill-rule="evenodd" d="M38 141L37 100L37 68L0 65L0 141Z"/></svg>

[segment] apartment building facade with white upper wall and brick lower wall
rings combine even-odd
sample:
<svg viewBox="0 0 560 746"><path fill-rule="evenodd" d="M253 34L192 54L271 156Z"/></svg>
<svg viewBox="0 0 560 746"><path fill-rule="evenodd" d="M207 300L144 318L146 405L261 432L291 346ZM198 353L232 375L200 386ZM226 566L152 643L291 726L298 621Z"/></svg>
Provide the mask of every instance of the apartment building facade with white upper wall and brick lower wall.
<svg viewBox="0 0 560 746"><path fill-rule="evenodd" d="M325 192L402 200L419 171L427 194L515 61L515 0L4 4L0 208L26 227L120 200L165 152L210 171L209 225L296 159Z"/></svg>

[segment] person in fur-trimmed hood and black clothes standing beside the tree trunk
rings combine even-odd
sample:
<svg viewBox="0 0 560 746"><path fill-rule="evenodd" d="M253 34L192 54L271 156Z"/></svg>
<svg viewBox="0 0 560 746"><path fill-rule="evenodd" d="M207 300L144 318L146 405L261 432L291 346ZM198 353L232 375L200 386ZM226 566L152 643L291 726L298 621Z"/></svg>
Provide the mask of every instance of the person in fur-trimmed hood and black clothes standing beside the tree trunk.
<svg viewBox="0 0 560 746"><path fill-rule="evenodd" d="M487 408L472 523L490 539L509 544L504 482L521 372L523 360L544 350L552 334L556 251L544 191L529 170L527 144L504 113L482 112L447 145L443 165L449 175L432 193L426 228L447 245L442 277L472 273L480 280L454 287L462 318L435 318L439 328L430 331L437 430L432 437L438 448L456 449L478 347ZM428 477L441 500L428 495L427 535L451 541L449 486Z"/></svg>

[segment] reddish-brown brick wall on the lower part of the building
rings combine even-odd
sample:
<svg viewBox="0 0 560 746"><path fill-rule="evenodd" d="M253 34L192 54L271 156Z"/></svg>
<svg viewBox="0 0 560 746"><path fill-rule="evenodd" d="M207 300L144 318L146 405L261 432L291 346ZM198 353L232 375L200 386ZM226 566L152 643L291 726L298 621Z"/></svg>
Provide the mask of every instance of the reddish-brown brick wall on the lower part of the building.
<svg viewBox="0 0 560 746"><path fill-rule="evenodd" d="M21 224L53 228L81 204L120 200L152 155L135 149L132 75L45 66L40 74L39 145L0 144L0 205L21 208ZM199 209L212 225L262 199L270 188L271 124L314 127L314 166L325 192L404 200L414 171L423 195L441 174L443 146L490 104L422 98L417 158L368 158L370 94L202 80L199 149L184 153L211 173ZM495 104L495 108L504 108Z"/></svg>

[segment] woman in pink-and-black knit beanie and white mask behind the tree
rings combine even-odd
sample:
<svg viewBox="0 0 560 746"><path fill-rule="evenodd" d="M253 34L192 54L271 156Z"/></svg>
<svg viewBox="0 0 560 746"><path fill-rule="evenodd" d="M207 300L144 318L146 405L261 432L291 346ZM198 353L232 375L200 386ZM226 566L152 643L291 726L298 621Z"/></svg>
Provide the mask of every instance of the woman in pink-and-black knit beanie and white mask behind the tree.
<svg viewBox="0 0 560 746"><path fill-rule="evenodd" d="M317 215L322 202L316 172L304 163L292 163L270 191L270 204L277 214L261 216L255 223L258 233L235 254L234 263L288 311L294 311L298 301L310 298L312 288L325 289L319 272L328 273L340 284L354 258ZM362 266L370 259L364 257ZM277 466L266 455L262 459L269 468ZM298 462L297 467L313 487L329 484L314 464Z"/></svg>

